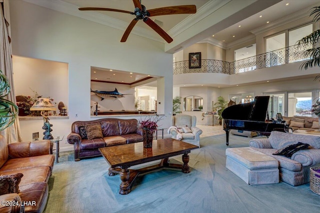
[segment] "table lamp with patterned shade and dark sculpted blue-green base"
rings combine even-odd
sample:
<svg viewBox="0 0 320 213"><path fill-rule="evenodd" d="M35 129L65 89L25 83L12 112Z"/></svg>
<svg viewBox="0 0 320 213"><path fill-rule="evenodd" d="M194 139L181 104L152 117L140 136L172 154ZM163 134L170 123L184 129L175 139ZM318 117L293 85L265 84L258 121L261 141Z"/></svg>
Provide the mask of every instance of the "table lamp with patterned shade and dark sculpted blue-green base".
<svg viewBox="0 0 320 213"><path fill-rule="evenodd" d="M43 140L50 140L53 139L51 135L51 126L52 124L49 123L48 118L48 111L55 111L56 108L52 104L51 100L48 98L38 98L36 102L31 106L30 111L41 111L41 115L43 117L43 127L45 131L43 132Z"/></svg>

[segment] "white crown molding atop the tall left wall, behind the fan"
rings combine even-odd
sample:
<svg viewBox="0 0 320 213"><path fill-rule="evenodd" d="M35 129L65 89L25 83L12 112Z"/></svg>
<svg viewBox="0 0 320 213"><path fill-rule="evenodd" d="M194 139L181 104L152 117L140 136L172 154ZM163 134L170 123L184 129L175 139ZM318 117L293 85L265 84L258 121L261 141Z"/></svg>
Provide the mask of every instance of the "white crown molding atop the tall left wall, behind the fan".
<svg viewBox="0 0 320 213"><path fill-rule="evenodd" d="M115 29L125 31L126 27L129 25L128 22L122 21L99 12L86 11L82 12L78 10L78 6L62 1L62 0L23 0L28 3L36 4L38 6L46 7L48 9L53 9L59 12L63 12L69 15L73 15L79 18L90 20L105 26L109 26ZM164 43L163 39L152 30L140 26L134 26L131 33L146 37L155 41Z"/></svg>

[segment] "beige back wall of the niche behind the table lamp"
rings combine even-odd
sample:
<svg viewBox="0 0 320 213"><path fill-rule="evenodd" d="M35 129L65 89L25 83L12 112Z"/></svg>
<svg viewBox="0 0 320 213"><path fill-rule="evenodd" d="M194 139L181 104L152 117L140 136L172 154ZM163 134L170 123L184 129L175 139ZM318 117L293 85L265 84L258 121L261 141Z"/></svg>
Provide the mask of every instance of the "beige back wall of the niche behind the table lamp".
<svg viewBox="0 0 320 213"><path fill-rule="evenodd" d="M30 100L36 100L36 96L50 97L56 108L62 102L68 111L67 63L12 55L12 67L15 96L29 96ZM31 106L31 102L28 104Z"/></svg>

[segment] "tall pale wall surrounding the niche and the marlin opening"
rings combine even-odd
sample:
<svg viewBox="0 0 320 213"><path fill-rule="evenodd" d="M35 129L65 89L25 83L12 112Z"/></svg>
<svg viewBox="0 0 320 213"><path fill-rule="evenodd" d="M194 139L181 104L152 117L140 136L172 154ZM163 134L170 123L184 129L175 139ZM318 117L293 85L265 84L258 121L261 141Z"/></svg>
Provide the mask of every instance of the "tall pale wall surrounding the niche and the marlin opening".
<svg viewBox="0 0 320 213"><path fill-rule="evenodd" d="M91 66L163 76L157 81L157 99L160 102L157 109L158 113L166 116L161 121L163 127L169 126L172 54L163 51L164 43L134 34L121 43L122 30L21 0L9 2L12 54L68 64L68 90L64 93L68 94L70 118L51 120L52 135L64 135L66 138L74 121L96 119L90 117ZM78 117L75 117L76 113ZM20 122L23 140L30 140L32 132L41 132L42 125L42 120ZM71 145L64 143L60 147L61 150L65 147L72 149Z"/></svg>

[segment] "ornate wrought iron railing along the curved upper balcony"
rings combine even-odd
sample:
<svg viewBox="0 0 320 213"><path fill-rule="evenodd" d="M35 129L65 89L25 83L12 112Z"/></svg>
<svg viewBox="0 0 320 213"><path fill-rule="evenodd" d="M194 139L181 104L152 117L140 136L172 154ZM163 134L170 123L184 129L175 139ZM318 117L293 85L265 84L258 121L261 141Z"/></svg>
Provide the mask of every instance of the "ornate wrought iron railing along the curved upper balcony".
<svg viewBox="0 0 320 213"><path fill-rule="evenodd" d="M310 59L303 55L303 52L309 48L309 46L301 48L293 45L233 62L202 59L200 68L189 68L189 61L177 61L173 63L173 74L205 72L235 74L247 72Z"/></svg>

